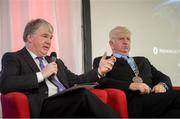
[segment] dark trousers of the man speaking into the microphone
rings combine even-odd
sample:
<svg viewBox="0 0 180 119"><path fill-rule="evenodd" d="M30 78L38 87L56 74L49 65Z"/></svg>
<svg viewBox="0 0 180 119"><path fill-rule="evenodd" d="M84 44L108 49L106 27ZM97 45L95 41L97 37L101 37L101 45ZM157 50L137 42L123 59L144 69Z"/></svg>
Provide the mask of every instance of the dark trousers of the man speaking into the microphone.
<svg viewBox="0 0 180 119"><path fill-rule="evenodd" d="M74 90L44 100L40 117L118 117L118 114L86 89Z"/></svg>

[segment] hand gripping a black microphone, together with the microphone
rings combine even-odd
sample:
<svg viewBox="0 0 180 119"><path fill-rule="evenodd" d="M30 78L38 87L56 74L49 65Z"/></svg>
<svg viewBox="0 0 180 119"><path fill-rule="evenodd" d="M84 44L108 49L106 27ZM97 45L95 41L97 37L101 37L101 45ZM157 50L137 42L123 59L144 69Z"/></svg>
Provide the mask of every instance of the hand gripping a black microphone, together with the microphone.
<svg viewBox="0 0 180 119"><path fill-rule="evenodd" d="M41 71L44 78L48 78L50 76L57 74L57 64L55 62L57 59L57 55L55 52L52 52L50 57L51 57L51 63L47 64L44 67L44 69Z"/></svg>

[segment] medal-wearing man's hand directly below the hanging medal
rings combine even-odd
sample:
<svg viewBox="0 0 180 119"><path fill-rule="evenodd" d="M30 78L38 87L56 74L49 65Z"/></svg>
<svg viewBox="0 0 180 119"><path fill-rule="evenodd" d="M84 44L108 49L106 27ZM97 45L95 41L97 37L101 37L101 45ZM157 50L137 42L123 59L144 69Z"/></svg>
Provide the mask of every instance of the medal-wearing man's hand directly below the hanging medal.
<svg viewBox="0 0 180 119"><path fill-rule="evenodd" d="M151 92L151 88L145 83L131 83L129 89L132 91L140 91L140 94L149 94Z"/></svg>

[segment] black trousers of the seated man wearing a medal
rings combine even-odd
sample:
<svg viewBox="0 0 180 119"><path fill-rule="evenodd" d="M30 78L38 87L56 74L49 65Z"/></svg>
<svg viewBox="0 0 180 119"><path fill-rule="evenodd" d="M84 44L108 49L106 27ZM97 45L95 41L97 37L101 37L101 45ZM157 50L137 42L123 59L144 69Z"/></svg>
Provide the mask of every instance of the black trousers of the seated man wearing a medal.
<svg viewBox="0 0 180 119"><path fill-rule="evenodd" d="M129 106L130 117L180 117L180 91L134 96Z"/></svg>

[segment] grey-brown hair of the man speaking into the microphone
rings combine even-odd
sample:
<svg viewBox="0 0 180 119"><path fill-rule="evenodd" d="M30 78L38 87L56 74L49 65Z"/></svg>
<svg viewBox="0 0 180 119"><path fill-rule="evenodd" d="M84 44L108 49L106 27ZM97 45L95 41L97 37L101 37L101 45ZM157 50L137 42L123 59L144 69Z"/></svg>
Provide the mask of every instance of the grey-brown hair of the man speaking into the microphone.
<svg viewBox="0 0 180 119"><path fill-rule="evenodd" d="M49 32L53 33L54 29L53 26L44 19L34 19L27 23L24 33L23 33L23 40L27 42L27 36L29 34L33 34L40 26L47 26L49 28Z"/></svg>

